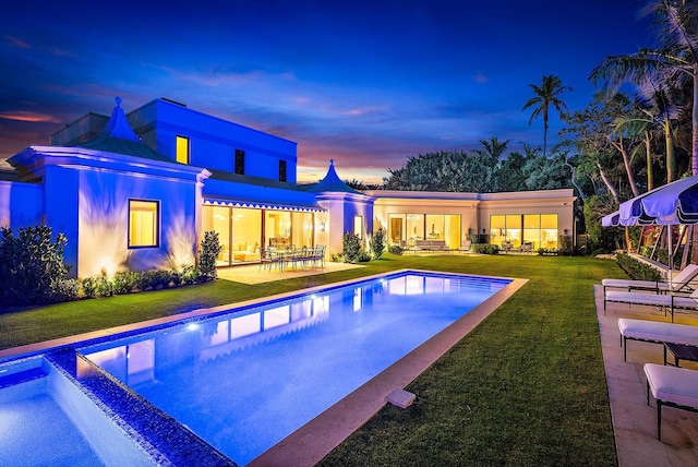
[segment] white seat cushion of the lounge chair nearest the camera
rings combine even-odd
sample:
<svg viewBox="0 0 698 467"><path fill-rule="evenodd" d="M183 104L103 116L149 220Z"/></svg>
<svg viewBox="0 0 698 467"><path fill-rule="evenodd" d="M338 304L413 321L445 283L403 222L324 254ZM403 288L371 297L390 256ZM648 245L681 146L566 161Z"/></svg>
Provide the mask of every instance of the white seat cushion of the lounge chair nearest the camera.
<svg viewBox="0 0 698 467"><path fill-rule="evenodd" d="M645 363L645 374L655 399L698 408L698 371Z"/></svg>

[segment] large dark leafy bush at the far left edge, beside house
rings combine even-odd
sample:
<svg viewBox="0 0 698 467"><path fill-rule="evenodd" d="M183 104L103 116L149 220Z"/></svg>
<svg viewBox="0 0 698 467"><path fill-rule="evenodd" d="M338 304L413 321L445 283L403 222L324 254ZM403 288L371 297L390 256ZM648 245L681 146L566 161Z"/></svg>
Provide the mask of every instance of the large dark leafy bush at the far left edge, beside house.
<svg viewBox="0 0 698 467"><path fill-rule="evenodd" d="M14 237L0 227L0 302L3 306L50 303L65 292L70 266L63 262L68 239L47 226L24 227ZM72 288L70 286L69 288ZM68 294L70 295L70 292Z"/></svg>

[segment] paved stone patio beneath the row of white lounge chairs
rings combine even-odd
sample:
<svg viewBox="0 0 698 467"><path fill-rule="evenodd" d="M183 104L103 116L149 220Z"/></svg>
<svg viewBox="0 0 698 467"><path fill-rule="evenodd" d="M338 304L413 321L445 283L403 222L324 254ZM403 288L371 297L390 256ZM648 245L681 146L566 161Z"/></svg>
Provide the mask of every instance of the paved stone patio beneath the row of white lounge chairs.
<svg viewBox="0 0 698 467"><path fill-rule="evenodd" d="M627 361L623 361L618 318L669 322L664 312L650 307L609 303L603 315L603 288L594 286L601 348L609 385L611 416L618 465L695 466L698 464L698 414L675 408L662 409L662 441L657 439L657 403L647 405L645 363L663 363L662 346L631 340ZM698 314L676 311L676 322L698 325ZM673 359L670 356L670 362ZM682 361L681 367L698 370L698 363Z"/></svg>

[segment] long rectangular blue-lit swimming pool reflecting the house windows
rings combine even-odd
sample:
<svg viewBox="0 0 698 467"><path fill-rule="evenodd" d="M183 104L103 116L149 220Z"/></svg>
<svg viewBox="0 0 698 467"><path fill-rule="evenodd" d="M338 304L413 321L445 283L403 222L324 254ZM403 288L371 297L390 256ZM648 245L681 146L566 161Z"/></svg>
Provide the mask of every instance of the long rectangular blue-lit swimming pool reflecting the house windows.
<svg viewBox="0 0 698 467"><path fill-rule="evenodd" d="M158 420L244 465L509 283L405 272L216 310L77 345L75 375L104 369Z"/></svg>

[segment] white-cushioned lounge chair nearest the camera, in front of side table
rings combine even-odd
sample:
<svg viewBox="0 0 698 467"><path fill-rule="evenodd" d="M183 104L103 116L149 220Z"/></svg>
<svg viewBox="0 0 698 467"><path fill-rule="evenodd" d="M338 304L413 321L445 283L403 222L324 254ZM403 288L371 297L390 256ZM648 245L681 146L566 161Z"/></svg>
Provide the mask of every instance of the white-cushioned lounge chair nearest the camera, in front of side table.
<svg viewBox="0 0 698 467"><path fill-rule="evenodd" d="M662 440L662 406L698 411L698 371L645 363L647 405L657 400L657 439Z"/></svg>

